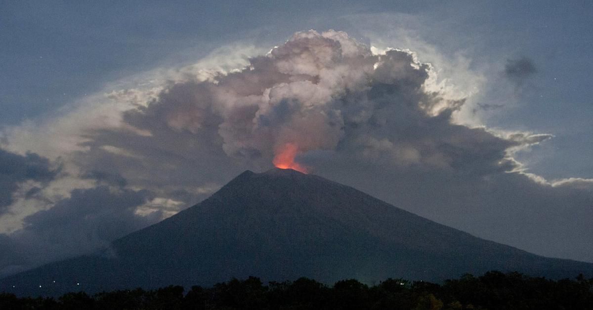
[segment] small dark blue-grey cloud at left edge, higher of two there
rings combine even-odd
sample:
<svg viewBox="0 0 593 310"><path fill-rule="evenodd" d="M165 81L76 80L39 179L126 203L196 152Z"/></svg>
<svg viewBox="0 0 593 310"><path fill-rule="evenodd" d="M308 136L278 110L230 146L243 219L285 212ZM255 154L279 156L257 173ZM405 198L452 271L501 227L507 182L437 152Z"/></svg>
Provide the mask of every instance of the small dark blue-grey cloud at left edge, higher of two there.
<svg viewBox="0 0 593 310"><path fill-rule="evenodd" d="M13 194L25 181L47 183L53 180L59 169L53 168L49 159L34 153L19 155L0 149L0 215L7 212L13 202Z"/></svg>

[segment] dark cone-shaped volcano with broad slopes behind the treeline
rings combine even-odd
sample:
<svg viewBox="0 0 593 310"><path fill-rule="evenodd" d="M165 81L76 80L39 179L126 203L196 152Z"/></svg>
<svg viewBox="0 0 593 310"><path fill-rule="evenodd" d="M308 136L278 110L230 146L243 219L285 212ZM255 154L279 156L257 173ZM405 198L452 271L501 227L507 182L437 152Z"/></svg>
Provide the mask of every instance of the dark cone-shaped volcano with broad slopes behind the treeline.
<svg viewBox="0 0 593 310"><path fill-rule="evenodd" d="M212 285L250 275L325 283L349 278L377 283L388 277L439 281L489 270L593 276L591 263L486 241L352 187L273 169L243 172L202 203L117 239L100 254L6 277L0 291L58 295Z"/></svg>

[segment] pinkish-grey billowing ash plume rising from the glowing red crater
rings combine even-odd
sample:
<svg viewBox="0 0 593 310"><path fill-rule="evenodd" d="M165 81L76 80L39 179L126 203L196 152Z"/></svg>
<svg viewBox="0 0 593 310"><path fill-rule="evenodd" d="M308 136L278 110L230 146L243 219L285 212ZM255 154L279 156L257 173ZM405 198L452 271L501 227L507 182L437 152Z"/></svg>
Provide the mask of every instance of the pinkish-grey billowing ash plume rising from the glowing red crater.
<svg viewBox="0 0 593 310"><path fill-rule="evenodd" d="M310 151L343 145L363 154L367 136L397 139L390 132L402 121L457 108L459 103L423 91L429 73L431 67L410 52L374 55L346 33L311 30L250 59L240 71L175 84L126 119L142 129L164 123L220 141L228 156L251 164L272 161L305 171L295 158ZM391 143L393 154L420 154L410 143Z"/></svg>

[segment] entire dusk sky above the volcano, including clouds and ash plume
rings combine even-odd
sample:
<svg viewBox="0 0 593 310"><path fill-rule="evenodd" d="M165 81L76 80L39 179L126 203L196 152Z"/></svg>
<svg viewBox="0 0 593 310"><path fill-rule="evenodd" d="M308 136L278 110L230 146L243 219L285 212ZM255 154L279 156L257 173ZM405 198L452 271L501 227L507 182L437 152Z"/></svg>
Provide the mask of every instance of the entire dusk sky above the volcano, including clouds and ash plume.
<svg viewBox="0 0 593 310"><path fill-rule="evenodd" d="M0 8L0 274L279 161L593 262L591 2Z"/></svg>

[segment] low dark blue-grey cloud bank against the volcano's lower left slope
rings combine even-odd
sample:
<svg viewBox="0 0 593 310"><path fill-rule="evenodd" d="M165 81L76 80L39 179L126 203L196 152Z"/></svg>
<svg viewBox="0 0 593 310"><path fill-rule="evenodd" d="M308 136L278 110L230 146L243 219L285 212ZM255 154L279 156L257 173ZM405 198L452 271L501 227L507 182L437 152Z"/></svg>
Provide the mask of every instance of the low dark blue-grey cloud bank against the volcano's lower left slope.
<svg viewBox="0 0 593 310"><path fill-rule="evenodd" d="M71 197L59 200L51 209L27 216L22 229L0 234L0 274L91 253L157 222L160 212L136 214L136 208L152 197L149 191L108 186L73 190Z"/></svg>

